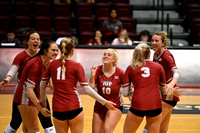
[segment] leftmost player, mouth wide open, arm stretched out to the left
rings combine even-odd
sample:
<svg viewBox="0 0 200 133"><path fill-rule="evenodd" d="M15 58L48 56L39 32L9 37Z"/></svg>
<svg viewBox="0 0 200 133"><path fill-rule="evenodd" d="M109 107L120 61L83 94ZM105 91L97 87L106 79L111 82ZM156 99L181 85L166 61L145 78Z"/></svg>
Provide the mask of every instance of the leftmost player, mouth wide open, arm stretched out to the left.
<svg viewBox="0 0 200 133"><path fill-rule="evenodd" d="M0 83L0 87L2 88L6 87L8 83L17 74L17 84L15 86L15 91L16 91L24 66L29 61L29 59L38 52L39 46L40 46L40 35L36 31L30 31L25 38L25 50L19 53L15 57L6 78L3 79L3 81ZM47 108L50 109L48 100L47 100ZM55 129L53 127L53 124L50 118L46 118L41 113L39 113L39 119L45 130L45 133L54 133ZM22 123L22 119L21 119L20 112L17 108L17 104L13 102L12 103L12 119L11 119L10 124L8 124L8 126L5 129L5 133L17 132L17 129L19 128L21 123Z"/></svg>

